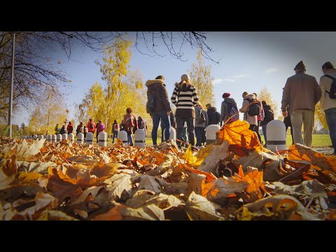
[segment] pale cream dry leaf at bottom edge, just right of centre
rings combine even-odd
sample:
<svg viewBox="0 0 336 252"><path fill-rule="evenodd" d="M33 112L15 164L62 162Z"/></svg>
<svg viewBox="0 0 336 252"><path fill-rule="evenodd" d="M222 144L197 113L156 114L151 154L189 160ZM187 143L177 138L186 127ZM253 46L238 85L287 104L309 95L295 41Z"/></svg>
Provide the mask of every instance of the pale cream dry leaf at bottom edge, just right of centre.
<svg viewBox="0 0 336 252"><path fill-rule="evenodd" d="M218 208L217 204L194 192L189 195L186 202L186 211L192 221L218 221L221 218L216 212Z"/></svg>

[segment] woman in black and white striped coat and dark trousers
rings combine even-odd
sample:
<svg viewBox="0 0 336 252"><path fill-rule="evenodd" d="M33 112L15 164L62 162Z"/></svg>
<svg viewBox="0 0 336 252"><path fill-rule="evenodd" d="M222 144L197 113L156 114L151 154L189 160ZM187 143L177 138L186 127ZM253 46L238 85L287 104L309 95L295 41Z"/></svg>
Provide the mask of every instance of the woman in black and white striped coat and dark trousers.
<svg viewBox="0 0 336 252"><path fill-rule="evenodd" d="M198 102L198 96L195 87L190 83L190 76L183 74L181 82L175 83L172 95L172 103L176 106L176 138L182 141L183 125L187 123L189 144L195 145L195 105ZM181 142L176 143L181 147Z"/></svg>

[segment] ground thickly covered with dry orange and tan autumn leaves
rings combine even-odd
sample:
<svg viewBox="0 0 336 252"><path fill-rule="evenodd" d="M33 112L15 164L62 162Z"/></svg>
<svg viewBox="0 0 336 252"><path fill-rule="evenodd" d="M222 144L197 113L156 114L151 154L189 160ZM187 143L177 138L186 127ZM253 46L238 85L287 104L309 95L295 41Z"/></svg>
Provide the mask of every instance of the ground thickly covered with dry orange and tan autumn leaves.
<svg viewBox="0 0 336 252"><path fill-rule="evenodd" d="M241 121L217 137L198 153L1 138L0 219L336 219L335 157L272 153Z"/></svg>

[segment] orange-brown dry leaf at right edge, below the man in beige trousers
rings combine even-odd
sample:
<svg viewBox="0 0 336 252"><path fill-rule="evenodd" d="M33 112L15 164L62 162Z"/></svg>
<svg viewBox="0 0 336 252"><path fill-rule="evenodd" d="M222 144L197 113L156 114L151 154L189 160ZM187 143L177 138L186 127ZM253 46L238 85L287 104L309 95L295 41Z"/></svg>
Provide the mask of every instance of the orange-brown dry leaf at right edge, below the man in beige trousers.
<svg viewBox="0 0 336 252"><path fill-rule="evenodd" d="M332 169L336 171L336 157L327 157L322 153L312 150L302 144L293 144L290 146L289 159L306 160L311 163L311 167L321 171L322 169Z"/></svg>

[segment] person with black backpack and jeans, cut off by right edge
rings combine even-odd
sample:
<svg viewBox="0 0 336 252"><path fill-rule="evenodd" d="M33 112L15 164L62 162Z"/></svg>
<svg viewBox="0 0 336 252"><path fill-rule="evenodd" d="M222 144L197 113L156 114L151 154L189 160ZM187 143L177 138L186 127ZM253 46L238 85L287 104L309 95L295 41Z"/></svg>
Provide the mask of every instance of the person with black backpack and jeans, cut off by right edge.
<svg viewBox="0 0 336 252"><path fill-rule="evenodd" d="M322 66L322 71L324 75L320 78L320 87L322 92L320 105L325 113L332 147L334 148L334 155L336 155L336 99L331 99L328 94L332 78L336 78L336 69L330 62L325 62Z"/></svg>

